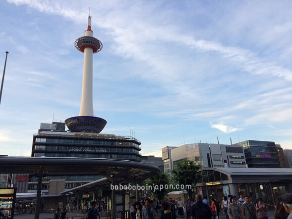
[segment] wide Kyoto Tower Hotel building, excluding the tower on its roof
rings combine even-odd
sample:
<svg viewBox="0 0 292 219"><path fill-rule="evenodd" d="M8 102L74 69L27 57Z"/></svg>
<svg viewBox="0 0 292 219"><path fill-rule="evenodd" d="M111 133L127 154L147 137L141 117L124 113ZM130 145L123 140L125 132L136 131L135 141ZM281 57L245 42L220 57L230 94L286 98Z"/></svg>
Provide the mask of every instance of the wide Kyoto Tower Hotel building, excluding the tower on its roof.
<svg viewBox="0 0 292 219"><path fill-rule="evenodd" d="M63 123L64 124L64 123ZM49 125L41 125L41 129L34 134L32 157L80 157L80 158L110 158L118 160L142 161L140 153L141 142L132 136L101 134L95 132L65 131L65 126L59 124L62 130L44 129ZM44 177L42 192L49 192L50 180L65 180L65 189L71 189L101 178L99 175L53 175ZM38 177L30 175L28 192L37 189ZM24 182L21 182L24 184Z"/></svg>

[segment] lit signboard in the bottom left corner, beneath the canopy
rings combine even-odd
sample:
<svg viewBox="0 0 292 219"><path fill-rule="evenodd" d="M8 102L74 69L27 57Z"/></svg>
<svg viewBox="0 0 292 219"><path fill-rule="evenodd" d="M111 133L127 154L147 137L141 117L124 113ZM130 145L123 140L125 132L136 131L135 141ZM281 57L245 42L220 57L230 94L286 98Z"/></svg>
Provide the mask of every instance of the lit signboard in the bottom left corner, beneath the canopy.
<svg viewBox="0 0 292 219"><path fill-rule="evenodd" d="M0 188L0 209L4 216L13 219L16 188Z"/></svg>

